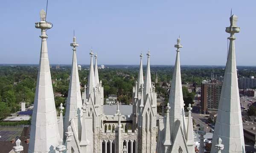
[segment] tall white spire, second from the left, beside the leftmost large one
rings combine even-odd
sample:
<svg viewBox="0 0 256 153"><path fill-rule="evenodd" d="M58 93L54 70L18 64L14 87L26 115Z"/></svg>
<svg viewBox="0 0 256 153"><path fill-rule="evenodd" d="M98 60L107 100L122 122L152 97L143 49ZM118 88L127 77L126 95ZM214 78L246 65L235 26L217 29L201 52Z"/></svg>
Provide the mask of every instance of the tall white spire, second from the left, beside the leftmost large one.
<svg viewBox="0 0 256 153"><path fill-rule="evenodd" d="M70 74L70 82L68 88L68 96L67 96L67 105L66 112L64 116L64 132L68 132L68 127L71 127L73 132L73 138L67 142L67 148L73 146L73 150L78 151L81 150L79 146L79 141L81 140L81 130L82 130L82 98L80 91L80 82L79 82L79 74L77 68L77 60L76 60L76 47L79 46L76 43L76 37L73 37L73 42L70 44L73 47L73 61L72 68ZM69 151L67 151L69 152Z"/></svg>

